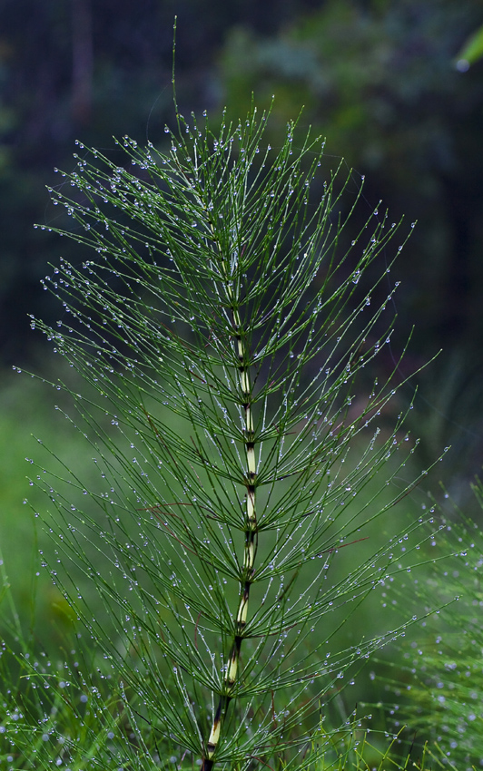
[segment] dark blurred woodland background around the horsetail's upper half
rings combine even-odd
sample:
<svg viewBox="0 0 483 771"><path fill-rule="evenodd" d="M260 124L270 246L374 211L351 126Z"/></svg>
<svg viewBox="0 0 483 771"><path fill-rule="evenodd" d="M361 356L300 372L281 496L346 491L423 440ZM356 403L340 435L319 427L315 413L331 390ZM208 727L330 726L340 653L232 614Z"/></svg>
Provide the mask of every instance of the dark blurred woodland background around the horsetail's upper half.
<svg viewBox="0 0 483 771"><path fill-rule="evenodd" d="M182 112L223 104L242 116L251 93L276 96L276 142L304 110L327 151L366 175L368 213L418 226L392 271L401 280L394 356L413 324L406 370L440 347L413 411L428 459L483 464L483 63L455 57L483 22L480 0L3 0L0 4L0 352L40 358L27 313L59 310L39 279L72 245L33 229L57 211L45 184L72 169L74 139L163 142L173 125L173 17ZM387 362L388 369L392 361ZM411 392L408 392L409 397ZM468 452L467 452L468 451Z"/></svg>

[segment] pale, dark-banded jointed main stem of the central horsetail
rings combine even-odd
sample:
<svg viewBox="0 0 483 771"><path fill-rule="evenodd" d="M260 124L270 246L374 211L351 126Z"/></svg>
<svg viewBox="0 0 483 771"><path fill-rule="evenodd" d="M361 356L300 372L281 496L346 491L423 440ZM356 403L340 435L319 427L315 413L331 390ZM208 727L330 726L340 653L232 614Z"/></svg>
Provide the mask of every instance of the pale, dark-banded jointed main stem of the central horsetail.
<svg viewBox="0 0 483 771"><path fill-rule="evenodd" d="M206 744L206 753L202 761L202 771L212 771L214 765L213 756L220 741L223 718L230 701L232 700L232 689L236 683L238 670L240 666L240 651L242 649L243 631L248 618L248 604L250 599L250 588L253 580L255 554L257 551L257 514L255 505L256 489L256 462L255 462L255 443L253 430L252 398L251 398L251 380L249 370L249 351L246 346L242 330L241 318L236 301L232 295L232 289L227 286L227 294L232 306L233 327L235 332L236 354L239 360L239 384L242 392L242 408L244 411L244 444L246 454L247 470L245 474L246 486L246 529L245 545L243 551L243 569L240 581L240 597L235 616L234 635L232 649L226 665L224 676L224 691L220 696L218 707L212 722L212 730Z"/></svg>

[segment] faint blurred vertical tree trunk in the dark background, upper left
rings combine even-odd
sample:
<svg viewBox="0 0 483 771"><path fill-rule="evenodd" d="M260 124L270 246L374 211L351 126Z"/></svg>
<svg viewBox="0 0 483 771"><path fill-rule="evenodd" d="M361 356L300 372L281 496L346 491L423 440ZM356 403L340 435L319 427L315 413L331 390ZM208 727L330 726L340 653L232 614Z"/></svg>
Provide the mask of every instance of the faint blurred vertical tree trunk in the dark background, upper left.
<svg viewBox="0 0 483 771"><path fill-rule="evenodd" d="M90 0L72 0L72 117L87 123L93 100L94 47Z"/></svg>

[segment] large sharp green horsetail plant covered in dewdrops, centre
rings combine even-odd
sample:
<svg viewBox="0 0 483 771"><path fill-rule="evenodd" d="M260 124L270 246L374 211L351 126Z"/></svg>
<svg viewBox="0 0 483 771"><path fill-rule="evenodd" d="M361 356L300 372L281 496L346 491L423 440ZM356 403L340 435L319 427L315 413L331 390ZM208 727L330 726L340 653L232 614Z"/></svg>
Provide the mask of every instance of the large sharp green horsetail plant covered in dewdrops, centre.
<svg viewBox="0 0 483 771"><path fill-rule="evenodd" d="M398 228L370 212L346 236L360 190L341 164L324 181L323 142L297 143L296 124L274 151L255 109L219 132L177 121L168 151L79 144L51 190L75 224L48 227L84 257L45 280L57 326L32 326L86 381L62 385L99 470L88 488L66 464L38 474L54 580L108 662L140 768L173 753L202 771L303 768L333 746L343 678L405 628L341 635L419 528L404 554L370 528L405 493L403 415L379 427L398 365L353 403L389 340Z"/></svg>

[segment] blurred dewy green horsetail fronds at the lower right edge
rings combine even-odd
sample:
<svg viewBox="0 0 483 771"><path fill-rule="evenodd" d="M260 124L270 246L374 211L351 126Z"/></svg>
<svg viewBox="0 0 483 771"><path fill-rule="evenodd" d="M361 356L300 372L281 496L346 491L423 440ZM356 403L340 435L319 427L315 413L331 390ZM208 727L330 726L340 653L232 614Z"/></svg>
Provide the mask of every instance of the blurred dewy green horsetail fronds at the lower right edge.
<svg viewBox="0 0 483 771"><path fill-rule="evenodd" d="M473 491L480 515L483 484L479 480ZM428 621L425 639L405 651L404 681L395 676L392 688L397 697L404 690L409 697L399 706L399 724L419 728L438 742L458 771L471 771L483 764L483 538L478 522L449 503L446 493L439 517L454 553L421 582L419 594L421 601L450 604L446 612Z"/></svg>

